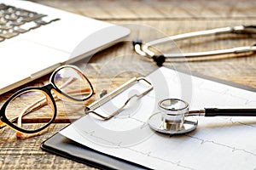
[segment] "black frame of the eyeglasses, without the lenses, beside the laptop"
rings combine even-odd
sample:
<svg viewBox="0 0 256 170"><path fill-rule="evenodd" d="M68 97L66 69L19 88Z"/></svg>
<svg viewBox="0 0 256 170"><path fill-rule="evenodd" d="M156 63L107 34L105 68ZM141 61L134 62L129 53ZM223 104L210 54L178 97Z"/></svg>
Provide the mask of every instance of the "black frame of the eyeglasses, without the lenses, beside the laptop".
<svg viewBox="0 0 256 170"><path fill-rule="evenodd" d="M60 71L63 68L73 68L75 71L79 71L79 73L81 73L81 75L83 76L83 78L89 83L90 85L90 94L88 94L84 99L75 99L72 96L69 96L67 94L65 94L64 92L61 91L61 89L59 89L56 85L55 85L55 75L57 74L58 71ZM54 115L51 117L50 121L48 123L46 123L43 127L39 127L38 129L35 130L26 130L20 127L15 126L14 123L10 122L8 120L8 118L6 117L5 111L7 108L7 105L9 105L9 103L12 101L12 99L15 99L16 96L25 93L26 91L40 91L43 92L45 97L49 97L52 105L54 106ZM79 68L75 65L61 65L60 67L58 67L57 69L55 69L55 71L53 71L53 73L51 74L51 76L49 77L49 83L44 85L43 87L29 87L29 88L22 88L19 91L17 91L15 94L12 94L9 99L7 99L3 106L0 109L0 126L3 125L3 123L5 125L8 125L9 127L15 129L15 131L19 131L21 133L38 133L42 130L44 130L44 128L49 127L49 125L55 121L55 118L57 116L57 106L55 104L55 99L53 97L53 94L51 94L51 91L53 91L57 96L63 96L66 99L69 100L73 100L75 102L83 102L84 100L90 99L90 97L92 96L94 90L92 87L92 84L90 82L90 80L84 75L84 73L82 71L79 70ZM18 117L16 118L18 119Z"/></svg>

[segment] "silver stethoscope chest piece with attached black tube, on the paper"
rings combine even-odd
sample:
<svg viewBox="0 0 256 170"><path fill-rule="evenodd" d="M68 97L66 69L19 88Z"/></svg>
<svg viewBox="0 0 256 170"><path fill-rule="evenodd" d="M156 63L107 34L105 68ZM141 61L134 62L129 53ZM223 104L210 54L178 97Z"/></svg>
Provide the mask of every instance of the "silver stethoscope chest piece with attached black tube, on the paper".
<svg viewBox="0 0 256 170"><path fill-rule="evenodd" d="M160 133L189 133L198 125L195 116L256 116L256 109L205 108L189 111L189 104L182 99L163 99L158 103L159 112L148 119L148 125Z"/></svg>

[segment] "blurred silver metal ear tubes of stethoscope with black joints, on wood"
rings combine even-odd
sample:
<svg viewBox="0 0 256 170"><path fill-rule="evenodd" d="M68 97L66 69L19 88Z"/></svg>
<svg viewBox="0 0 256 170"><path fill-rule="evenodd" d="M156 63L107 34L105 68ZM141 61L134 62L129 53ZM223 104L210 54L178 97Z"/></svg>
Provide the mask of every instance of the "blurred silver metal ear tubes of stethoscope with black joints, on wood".
<svg viewBox="0 0 256 170"><path fill-rule="evenodd" d="M213 50L213 51L206 51L206 52L195 52L195 53L184 53L184 54L154 54L150 47L154 47L154 45L164 43L164 42L171 42L177 40L183 40L191 37L198 37L198 36L209 36L214 34L223 34L223 33L235 33L235 34L253 34L256 33L256 26L234 26L234 27L224 27L224 28L217 28L207 31L195 31L189 32L184 34L179 34L171 37L163 37L160 39L156 39L151 42L145 42L138 40L133 43L134 50L137 54L142 56L148 57L149 59L153 59L157 65L162 65L166 59L179 59L179 58L193 58L193 57L202 57L202 56L209 56L209 55L218 55L218 54L241 54L247 52L255 52L256 51L256 44L252 46L243 46L237 48L228 48L228 49L220 49L220 50Z"/></svg>

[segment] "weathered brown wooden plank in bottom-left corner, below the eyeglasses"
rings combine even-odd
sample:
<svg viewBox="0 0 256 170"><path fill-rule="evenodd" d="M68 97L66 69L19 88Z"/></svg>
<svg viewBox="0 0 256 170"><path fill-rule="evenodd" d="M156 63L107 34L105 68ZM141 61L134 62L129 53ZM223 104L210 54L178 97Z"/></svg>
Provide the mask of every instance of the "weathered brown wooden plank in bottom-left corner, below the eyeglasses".
<svg viewBox="0 0 256 170"><path fill-rule="evenodd" d="M1 130L0 167L1 169L71 169L88 168L82 163L49 154L40 149L40 144L67 124L52 124L41 135L15 137L13 130Z"/></svg>

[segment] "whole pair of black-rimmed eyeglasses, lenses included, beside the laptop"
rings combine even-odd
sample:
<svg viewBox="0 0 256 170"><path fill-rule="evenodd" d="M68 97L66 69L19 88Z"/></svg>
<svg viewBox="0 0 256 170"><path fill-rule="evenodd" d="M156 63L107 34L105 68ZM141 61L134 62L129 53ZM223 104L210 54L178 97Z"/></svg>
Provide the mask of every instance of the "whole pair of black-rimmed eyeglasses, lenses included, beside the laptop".
<svg viewBox="0 0 256 170"><path fill-rule="evenodd" d="M17 131L17 136L38 133L54 122L55 100L83 102L92 94L92 85L82 71L74 65L63 65L52 73L49 84L21 89L7 99L0 110L0 128L8 125Z"/></svg>

